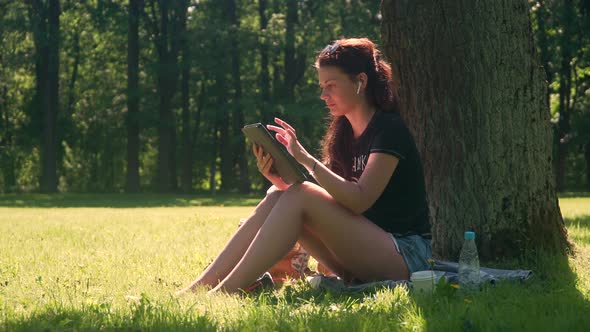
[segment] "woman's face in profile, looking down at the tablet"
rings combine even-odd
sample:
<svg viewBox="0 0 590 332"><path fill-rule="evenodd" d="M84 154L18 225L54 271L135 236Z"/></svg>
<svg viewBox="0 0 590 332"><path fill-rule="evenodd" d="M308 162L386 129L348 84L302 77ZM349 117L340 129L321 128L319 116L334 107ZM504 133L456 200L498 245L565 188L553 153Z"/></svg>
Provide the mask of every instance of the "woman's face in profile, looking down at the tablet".
<svg viewBox="0 0 590 332"><path fill-rule="evenodd" d="M334 116L345 115L360 103L356 94L358 82L335 66L324 66L318 69L318 78L322 99Z"/></svg>

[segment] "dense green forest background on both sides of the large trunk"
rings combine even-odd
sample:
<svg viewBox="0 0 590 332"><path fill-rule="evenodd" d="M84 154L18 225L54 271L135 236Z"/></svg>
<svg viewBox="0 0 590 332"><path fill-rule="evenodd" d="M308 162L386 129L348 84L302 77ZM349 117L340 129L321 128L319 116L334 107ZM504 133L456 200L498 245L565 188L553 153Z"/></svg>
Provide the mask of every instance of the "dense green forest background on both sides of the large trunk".
<svg viewBox="0 0 590 332"><path fill-rule="evenodd" d="M581 189L590 6L530 7L558 183ZM340 36L380 43L379 10L378 0L0 1L0 191L262 188L239 128L280 115L314 151L326 115L314 56Z"/></svg>

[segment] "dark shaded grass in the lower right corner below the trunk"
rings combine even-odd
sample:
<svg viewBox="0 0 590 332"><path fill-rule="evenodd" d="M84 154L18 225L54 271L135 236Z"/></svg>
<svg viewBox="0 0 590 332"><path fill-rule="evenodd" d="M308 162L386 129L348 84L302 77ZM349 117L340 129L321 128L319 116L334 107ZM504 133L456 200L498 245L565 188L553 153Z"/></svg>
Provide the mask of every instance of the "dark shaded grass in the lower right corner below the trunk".
<svg viewBox="0 0 590 332"><path fill-rule="evenodd" d="M475 294L457 291L417 296L414 300L429 330L585 330L583 326L590 326L590 289L580 282L569 259L567 255L544 252L515 262L499 262L513 269L532 270L534 275L525 282L487 285ZM589 268L582 266L587 264L582 260L575 264L578 273Z"/></svg>

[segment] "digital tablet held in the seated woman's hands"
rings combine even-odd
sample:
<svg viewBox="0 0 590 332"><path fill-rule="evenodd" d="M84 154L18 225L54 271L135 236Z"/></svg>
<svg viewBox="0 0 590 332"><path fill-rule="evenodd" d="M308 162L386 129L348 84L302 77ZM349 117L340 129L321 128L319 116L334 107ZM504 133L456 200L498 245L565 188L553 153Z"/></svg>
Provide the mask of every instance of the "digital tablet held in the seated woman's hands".
<svg viewBox="0 0 590 332"><path fill-rule="evenodd" d="M272 167L286 184L300 183L307 180L307 176L301 169L302 166L261 123L246 125L242 128L242 132L252 143L262 147L264 152L272 156Z"/></svg>

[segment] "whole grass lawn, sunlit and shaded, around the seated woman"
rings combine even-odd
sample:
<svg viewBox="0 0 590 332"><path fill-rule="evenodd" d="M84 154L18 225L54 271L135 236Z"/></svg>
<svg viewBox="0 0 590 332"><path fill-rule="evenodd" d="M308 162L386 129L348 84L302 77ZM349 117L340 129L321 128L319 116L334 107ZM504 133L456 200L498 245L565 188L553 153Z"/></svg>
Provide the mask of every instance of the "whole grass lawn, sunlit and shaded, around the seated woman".
<svg viewBox="0 0 590 332"><path fill-rule="evenodd" d="M588 195L560 199L577 254L521 259L515 266L535 272L525 284L470 297L404 288L350 297L302 283L258 298L174 297L256 201L0 196L0 330L590 330Z"/></svg>

